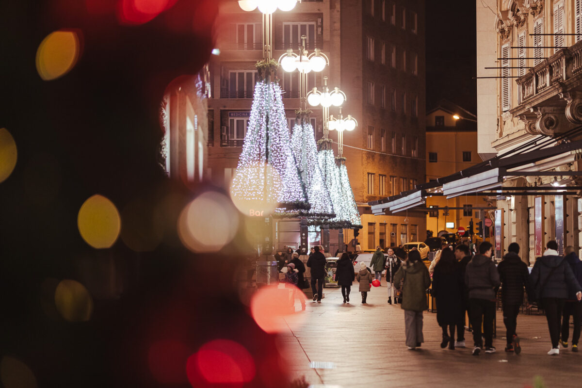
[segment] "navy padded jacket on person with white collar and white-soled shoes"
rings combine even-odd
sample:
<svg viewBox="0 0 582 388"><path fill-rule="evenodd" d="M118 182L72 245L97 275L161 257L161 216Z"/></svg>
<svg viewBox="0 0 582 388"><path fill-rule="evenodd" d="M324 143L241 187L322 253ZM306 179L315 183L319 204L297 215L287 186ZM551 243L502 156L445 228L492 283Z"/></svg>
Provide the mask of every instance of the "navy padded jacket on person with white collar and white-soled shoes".
<svg viewBox="0 0 582 388"><path fill-rule="evenodd" d="M550 272L556 268L552 276ZM546 281L546 279L548 279ZM531 269L531 283L534 285L535 296L538 301L540 298L560 298L566 299L568 291L576 294L580 289L572 267L568 265L566 259L562 256L547 255L542 256L535 261L534 268ZM545 283L545 287L542 286Z"/></svg>

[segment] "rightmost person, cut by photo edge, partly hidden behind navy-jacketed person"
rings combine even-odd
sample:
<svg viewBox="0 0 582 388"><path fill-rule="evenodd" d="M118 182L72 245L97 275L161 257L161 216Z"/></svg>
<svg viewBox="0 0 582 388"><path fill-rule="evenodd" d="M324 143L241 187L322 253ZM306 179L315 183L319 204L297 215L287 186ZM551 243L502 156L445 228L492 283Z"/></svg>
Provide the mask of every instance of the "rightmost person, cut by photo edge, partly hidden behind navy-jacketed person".
<svg viewBox="0 0 582 388"><path fill-rule="evenodd" d="M582 285L582 261L578 258L576 250L572 245L566 247L565 260L572 268L578 284ZM572 351L578 351L578 340L580 339L580 329L582 321L582 304L576 300L576 294L572 291L568 293L568 298L562 311L562 339L560 343L563 347L568 347L568 337L570 335L570 315L574 321L574 331L572 332Z"/></svg>

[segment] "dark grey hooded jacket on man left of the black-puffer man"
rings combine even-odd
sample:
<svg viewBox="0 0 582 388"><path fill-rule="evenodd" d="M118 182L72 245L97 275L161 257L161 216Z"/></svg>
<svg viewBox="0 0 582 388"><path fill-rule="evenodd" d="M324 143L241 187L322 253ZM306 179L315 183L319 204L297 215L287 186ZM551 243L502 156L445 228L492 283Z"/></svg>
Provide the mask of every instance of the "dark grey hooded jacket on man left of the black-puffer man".
<svg viewBox="0 0 582 388"><path fill-rule="evenodd" d="M499 272L490 257L476 255L467 264L465 284L469 287L469 298L495 300L500 283Z"/></svg>

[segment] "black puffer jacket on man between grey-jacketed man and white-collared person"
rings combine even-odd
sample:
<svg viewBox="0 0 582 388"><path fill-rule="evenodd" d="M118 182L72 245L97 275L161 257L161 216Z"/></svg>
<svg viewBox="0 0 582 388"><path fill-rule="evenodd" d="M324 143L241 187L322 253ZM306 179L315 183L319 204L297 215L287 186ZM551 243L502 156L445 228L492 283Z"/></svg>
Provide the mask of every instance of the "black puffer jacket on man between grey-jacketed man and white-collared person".
<svg viewBox="0 0 582 388"><path fill-rule="evenodd" d="M501 300L503 304L521 304L523 288L526 287L528 300L534 300L534 289L530 282L527 264L515 252L508 252L497 266L501 280Z"/></svg>

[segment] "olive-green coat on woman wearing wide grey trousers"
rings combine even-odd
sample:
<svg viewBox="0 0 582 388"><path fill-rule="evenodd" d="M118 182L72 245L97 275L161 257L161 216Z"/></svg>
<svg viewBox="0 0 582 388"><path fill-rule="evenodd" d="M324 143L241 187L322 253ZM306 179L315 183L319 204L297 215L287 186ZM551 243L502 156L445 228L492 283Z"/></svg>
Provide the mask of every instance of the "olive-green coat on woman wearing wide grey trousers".
<svg viewBox="0 0 582 388"><path fill-rule="evenodd" d="M410 264L404 261L396 275L394 283L402 285L402 309L409 311L424 311L427 305L427 289L431 285L431 276L427 266L422 261Z"/></svg>

